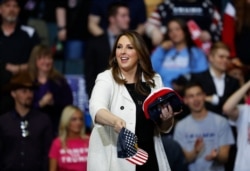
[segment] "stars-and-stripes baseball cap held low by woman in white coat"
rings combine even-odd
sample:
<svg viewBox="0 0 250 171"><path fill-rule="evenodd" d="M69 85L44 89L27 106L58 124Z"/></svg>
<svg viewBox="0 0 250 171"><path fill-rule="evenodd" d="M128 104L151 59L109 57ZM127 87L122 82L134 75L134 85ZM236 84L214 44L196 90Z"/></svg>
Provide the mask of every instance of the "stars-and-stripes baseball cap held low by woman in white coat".
<svg viewBox="0 0 250 171"><path fill-rule="evenodd" d="M117 151L119 158L125 158L127 161L143 165L147 162L148 153L140 149L137 145L137 136L126 128L122 128L117 141Z"/></svg>

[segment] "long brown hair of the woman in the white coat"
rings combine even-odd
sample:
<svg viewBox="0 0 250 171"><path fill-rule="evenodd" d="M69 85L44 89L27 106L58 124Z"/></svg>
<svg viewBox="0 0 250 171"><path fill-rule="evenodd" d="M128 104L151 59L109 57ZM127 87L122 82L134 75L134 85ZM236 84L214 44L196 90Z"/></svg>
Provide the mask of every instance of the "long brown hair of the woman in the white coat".
<svg viewBox="0 0 250 171"><path fill-rule="evenodd" d="M145 41L143 40L141 35L135 31L125 31L122 34L120 34L115 41L113 50L109 58L109 66L110 68L112 68L112 74L113 74L114 80L118 84L126 83L126 80L124 80L121 77L121 72L120 72L118 63L116 61L116 46L117 46L118 40L122 36L128 37L134 49L136 50L136 53L139 59L138 64L137 64L138 67L136 71L135 89L139 93L148 94L142 86L142 74L145 78L146 84L149 85L150 87L154 87L155 83L154 83L153 77L155 75L155 72L152 67L149 51L147 49Z"/></svg>

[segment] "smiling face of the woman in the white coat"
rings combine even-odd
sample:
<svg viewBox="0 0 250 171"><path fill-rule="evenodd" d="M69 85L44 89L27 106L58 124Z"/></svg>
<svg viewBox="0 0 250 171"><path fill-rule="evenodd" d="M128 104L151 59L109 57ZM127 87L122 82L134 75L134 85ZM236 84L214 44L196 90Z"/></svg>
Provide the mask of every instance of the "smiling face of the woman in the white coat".
<svg viewBox="0 0 250 171"><path fill-rule="evenodd" d="M121 36L116 45L116 60L122 71L136 71L138 56L136 49L127 36Z"/></svg>

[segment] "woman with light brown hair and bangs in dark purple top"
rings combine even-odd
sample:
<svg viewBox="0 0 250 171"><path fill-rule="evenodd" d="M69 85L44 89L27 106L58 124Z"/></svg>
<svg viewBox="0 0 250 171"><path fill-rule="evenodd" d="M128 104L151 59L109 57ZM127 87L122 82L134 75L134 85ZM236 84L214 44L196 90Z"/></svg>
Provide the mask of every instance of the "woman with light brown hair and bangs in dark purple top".
<svg viewBox="0 0 250 171"><path fill-rule="evenodd" d="M53 62L51 49L37 45L31 52L28 70L32 80L39 85L34 91L33 105L49 115L56 133L61 112L73 103L73 96L66 79L54 68Z"/></svg>

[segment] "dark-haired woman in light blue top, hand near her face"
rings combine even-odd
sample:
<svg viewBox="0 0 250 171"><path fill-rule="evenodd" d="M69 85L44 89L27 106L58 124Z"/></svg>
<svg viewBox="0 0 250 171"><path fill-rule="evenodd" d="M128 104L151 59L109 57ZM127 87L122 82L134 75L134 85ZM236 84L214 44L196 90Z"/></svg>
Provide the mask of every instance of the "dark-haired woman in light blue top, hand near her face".
<svg viewBox="0 0 250 171"><path fill-rule="evenodd" d="M156 47L151 55L151 61L154 70L161 75L164 86L181 92L184 83L176 83L192 73L205 71L208 61L205 53L195 46L183 19L171 19L166 28L168 30L165 40Z"/></svg>

